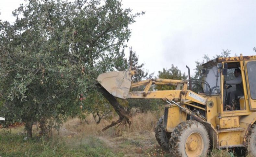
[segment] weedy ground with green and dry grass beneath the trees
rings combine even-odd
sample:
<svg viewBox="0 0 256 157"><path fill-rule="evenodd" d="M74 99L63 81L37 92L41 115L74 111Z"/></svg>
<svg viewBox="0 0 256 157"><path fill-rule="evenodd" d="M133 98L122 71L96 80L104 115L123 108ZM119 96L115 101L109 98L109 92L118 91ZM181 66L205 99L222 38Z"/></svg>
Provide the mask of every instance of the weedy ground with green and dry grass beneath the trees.
<svg viewBox="0 0 256 157"><path fill-rule="evenodd" d="M1 129L0 156L168 157L169 151L157 144L154 134L160 116L159 112L136 114L131 127L124 128L120 137L115 135L114 127L101 131L111 121L102 120L97 125L92 116L86 120L68 119L59 131L52 132L51 138L27 140L23 126ZM36 137L36 126L33 126L33 133ZM209 156L230 157L235 154L232 150L211 150Z"/></svg>

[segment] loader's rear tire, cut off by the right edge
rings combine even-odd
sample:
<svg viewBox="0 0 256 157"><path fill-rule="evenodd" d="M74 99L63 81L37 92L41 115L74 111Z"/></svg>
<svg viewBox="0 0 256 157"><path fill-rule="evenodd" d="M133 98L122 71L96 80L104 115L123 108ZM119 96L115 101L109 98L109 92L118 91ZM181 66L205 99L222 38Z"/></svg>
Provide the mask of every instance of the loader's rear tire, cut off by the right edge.
<svg viewBox="0 0 256 157"><path fill-rule="evenodd" d="M249 155L256 157L256 124L253 124L248 133L247 151Z"/></svg>

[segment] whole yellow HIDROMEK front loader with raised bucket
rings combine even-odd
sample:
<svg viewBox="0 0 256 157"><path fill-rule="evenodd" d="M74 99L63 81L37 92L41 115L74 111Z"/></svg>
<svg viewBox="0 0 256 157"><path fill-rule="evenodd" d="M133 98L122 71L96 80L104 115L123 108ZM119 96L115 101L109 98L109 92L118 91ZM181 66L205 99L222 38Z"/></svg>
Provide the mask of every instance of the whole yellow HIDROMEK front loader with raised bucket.
<svg viewBox="0 0 256 157"><path fill-rule="evenodd" d="M191 79L132 83L136 73L132 70L103 73L97 80L115 97L162 99L168 104L157 122L155 136L172 156L207 156L212 145L217 149L246 147L256 157L256 56L216 58L203 64L203 68L198 93L191 90ZM237 96L230 107L226 104L227 95L235 89L225 82L235 69L241 70L243 95ZM152 84L181 88L150 91ZM131 91L138 86L145 88Z"/></svg>

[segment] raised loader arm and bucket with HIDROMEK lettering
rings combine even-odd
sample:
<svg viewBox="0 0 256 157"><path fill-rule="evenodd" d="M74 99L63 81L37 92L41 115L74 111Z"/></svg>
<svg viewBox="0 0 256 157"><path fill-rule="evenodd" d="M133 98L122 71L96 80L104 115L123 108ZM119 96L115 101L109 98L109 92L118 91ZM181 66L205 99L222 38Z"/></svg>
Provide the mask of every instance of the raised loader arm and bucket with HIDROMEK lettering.
<svg viewBox="0 0 256 157"><path fill-rule="evenodd" d="M203 107L195 106L192 102L206 105L207 99L198 95L191 90L188 90L188 82L185 80L171 80L171 79L150 79L140 82L132 82L132 77L136 71L120 71L100 74L97 80L103 88L105 88L111 95L122 99L126 98L145 98L145 99L163 99L169 104L175 104L186 114L194 117L197 121L204 121L204 119L196 116L192 111L182 105L189 105L195 108L205 110ZM161 90L150 91L152 84L156 85L182 85L181 90ZM145 86L143 91L130 91L131 88Z"/></svg>

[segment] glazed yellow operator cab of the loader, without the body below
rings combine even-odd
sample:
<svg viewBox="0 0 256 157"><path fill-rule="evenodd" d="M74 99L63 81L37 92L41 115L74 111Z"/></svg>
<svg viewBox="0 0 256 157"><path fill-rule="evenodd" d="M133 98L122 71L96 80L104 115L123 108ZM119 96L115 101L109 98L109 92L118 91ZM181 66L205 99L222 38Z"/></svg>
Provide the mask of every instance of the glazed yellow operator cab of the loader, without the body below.
<svg viewBox="0 0 256 157"><path fill-rule="evenodd" d="M216 98L218 113L246 115L256 110L256 56L216 58L203 67L204 93L206 97ZM238 71L241 82L227 84L237 78ZM231 94L235 94L232 102Z"/></svg>

